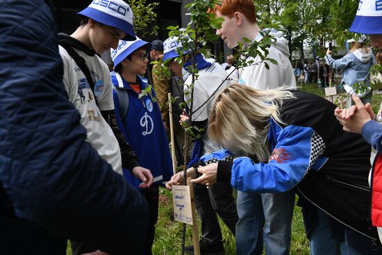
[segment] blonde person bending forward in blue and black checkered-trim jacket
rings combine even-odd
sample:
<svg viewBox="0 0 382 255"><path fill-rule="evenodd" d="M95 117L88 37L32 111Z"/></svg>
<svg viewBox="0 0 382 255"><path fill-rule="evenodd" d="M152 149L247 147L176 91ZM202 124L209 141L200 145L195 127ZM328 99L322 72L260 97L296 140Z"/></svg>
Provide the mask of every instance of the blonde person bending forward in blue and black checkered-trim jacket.
<svg viewBox="0 0 382 255"><path fill-rule="evenodd" d="M369 222L369 145L342 131L335 107L307 92L230 85L217 96L207 129L225 150L201 158L206 166L194 183L230 182L260 194L293 189L304 199L310 254L381 254Z"/></svg>

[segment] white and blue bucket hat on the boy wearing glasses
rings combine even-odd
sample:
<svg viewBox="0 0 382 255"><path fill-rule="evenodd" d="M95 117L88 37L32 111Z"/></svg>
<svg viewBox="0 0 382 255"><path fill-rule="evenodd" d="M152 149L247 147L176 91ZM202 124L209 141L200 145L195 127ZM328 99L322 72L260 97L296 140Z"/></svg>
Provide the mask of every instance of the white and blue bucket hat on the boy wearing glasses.
<svg viewBox="0 0 382 255"><path fill-rule="evenodd" d="M113 59L114 67L142 46L146 46L147 52L151 49L151 44L144 40L140 40L138 36L135 38L135 41L119 40L117 48L111 49L111 58Z"/></svg>

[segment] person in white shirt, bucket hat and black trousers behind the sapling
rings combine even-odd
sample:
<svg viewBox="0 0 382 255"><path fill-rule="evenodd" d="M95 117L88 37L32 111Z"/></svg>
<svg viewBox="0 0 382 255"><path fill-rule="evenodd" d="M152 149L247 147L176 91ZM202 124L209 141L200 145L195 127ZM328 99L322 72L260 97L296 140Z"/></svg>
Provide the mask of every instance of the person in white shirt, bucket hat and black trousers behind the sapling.
<svg viewBox="0 0 382 255"><path fill-rule="evenodd" d="M178 49L182 48L182 44L178 42L178 38L168 38L164 42L164 47L163 60L170 60L169 69L179 78L183 78L186 89L192 83L192 76L187 71L192 63L191 54L188 54L186 51L185 55L182 56L183 60L185 60L185 64L182 68L181 65L174 60L174 58L179 56ZM220 91L229 86L230 81L224 81L227 76L226 70L222 65L219 65L219 63L208 62L200 53L197 53L195 56L195 61L196 68L199 69L199 72L197 79L194 81L192 125L198 126L206 131L208 118L215 103L215 97ZM222 81L224 81L224 83L222 83ZM184 94L185 102L190 102L190 93ZM181 121L187 119L188 117L186 115L181 115ZM216 145L210 140L206 132L202 132L201 135L202 138L196 139L194 142L194 151L192 152L192 159L189 166L199 163L199 159L204 154L211 154L217 150ZM174 175L172 180L176 179L180 174L181 172ZM172 182L167 183L167 188L169 188L171 183ZM238 213L232 192L233 190L230 183L217 183L208 189L206 186L199 184L194 186L195 206L201 218L202 238L199 241L201 254L225 254L217 214L235 236L235 225L238 222ZM185 252L194 254L193 246L185 247Z"/></svg>

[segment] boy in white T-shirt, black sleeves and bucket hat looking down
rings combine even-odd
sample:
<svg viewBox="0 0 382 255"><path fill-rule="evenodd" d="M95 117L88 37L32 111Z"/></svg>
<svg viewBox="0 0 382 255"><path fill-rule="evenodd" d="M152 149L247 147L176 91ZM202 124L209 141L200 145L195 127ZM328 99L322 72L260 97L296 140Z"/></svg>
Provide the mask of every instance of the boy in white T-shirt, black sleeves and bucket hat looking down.
<svg viewBox="0 0 382 255"><path fill-rule="evenodd" d="M124 140L115 121L113 85L106 63L97 56L115 49L119 39L135 40L133 11L122 0L92 1L78 13L81 24L72 35L60 34L65 89L78 112L88 141L101 158L122 174L122 165L150 186L153 177L140 167L135 152ZM85 160L85 158L84 158ZM92 252L74 242L74 254Z"/></svg>

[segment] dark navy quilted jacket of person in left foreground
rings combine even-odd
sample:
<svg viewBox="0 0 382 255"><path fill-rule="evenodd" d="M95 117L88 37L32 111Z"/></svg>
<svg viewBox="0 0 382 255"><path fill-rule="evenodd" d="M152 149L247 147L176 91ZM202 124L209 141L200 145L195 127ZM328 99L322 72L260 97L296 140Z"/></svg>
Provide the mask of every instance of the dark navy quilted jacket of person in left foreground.
<svg viewBox="0 0 382 255"><path fill-rule="evenodd" d="M0 34L0 183L15 217L111 254L140 254L147 204L85 141L50 8L0 1Z"/></svg>

